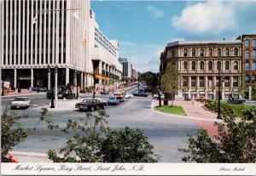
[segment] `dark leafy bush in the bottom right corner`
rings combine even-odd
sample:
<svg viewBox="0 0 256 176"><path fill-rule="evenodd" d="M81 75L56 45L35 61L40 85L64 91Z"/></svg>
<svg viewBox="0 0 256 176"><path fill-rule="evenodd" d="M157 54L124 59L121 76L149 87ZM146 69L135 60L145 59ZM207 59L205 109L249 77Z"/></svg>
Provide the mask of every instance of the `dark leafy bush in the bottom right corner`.
<svg viewBox="0 0 256 176"><path fill-rule="evenodd" d="M224 122L215 122L218 135L213 137L202 128L195 138L189 135L189 148L178 149L189 154L183 156L183 162L256 162L256 113L253 111L244 113L241 122L236 122L234 116L223 116Z"/></svg>

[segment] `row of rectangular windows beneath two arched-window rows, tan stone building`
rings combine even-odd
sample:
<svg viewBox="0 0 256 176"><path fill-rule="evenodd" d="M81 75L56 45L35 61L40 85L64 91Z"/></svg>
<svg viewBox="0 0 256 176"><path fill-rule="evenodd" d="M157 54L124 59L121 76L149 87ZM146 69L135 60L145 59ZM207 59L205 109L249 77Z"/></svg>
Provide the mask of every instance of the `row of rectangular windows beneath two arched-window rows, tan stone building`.
<svg viewBox="0 0 256 176"><path fill-rule="evenodd" d="M190 87L197 87L196 77L190 77L191 85ZM230 87L230 77L222 77L224 82L224 87ZM233 87L238 87L239 77L233 77ZM216 77L216 82L214 84L213 77L207 77L207 82L205 77L199 77L199 87L218 87L219 77ZM189 77L183 77L183 87L189 87Z"/></svg>

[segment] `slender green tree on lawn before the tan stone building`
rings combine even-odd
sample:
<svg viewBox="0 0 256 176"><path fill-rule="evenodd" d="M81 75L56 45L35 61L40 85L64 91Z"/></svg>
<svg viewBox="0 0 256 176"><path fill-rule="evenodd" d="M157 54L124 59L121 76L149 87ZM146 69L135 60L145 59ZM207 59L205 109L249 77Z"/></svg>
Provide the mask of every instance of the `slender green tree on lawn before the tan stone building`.
<svg viewBox="0 0 256 176"><path fill-rule="evenodd" d="M179 89L179 77L176 65L168 63L166 73L161 77L161 89L166 93L172 93L172 106L174 94Z"/></svg>

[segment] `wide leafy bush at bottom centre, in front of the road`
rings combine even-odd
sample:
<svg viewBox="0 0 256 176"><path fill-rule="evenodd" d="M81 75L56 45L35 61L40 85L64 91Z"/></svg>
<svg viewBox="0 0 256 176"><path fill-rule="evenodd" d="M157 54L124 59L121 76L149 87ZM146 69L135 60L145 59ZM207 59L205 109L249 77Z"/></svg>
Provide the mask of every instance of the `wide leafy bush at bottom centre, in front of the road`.
<svg viewBox="0 0 256 176"><path fill-rule="evenodd" d="M49 150L53 162L157 162L153 157L153 145L140 129L128 127L111 130L106 127L105 111L86 112L80 122L67 122L62 132L67 145L60 150Z"/></svg>

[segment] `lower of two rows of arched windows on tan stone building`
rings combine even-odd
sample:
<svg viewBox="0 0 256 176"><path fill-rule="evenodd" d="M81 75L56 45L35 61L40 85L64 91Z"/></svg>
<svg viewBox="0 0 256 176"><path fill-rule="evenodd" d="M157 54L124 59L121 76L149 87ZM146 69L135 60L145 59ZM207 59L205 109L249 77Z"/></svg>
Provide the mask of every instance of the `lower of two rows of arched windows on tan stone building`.
<svg viewBox="0 0 256 176"><path fill-rule="evenodd" d="M200 62L200 70L201 71L205 71L205 62L204 61L201 61ZM229 71L230 70L230 61L226 60L224 62L224 69L226 71ZM183 70L184 71L188 71L189 70L189 64L187 61L183 61ZM196 71L196 63L195 61L192 61L191 62L191 70L192 71ZM208 62L208 71L212 71L213 70L213 62L212 61L209 61ZM218 61L217 62L217 70L222 70L222 65L221 65L221 61ZM234 61L234 64L233 64L233 70L237 71L238 70L238 61Z"/></svg>

